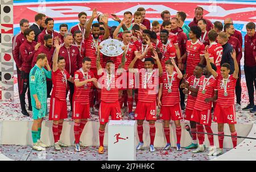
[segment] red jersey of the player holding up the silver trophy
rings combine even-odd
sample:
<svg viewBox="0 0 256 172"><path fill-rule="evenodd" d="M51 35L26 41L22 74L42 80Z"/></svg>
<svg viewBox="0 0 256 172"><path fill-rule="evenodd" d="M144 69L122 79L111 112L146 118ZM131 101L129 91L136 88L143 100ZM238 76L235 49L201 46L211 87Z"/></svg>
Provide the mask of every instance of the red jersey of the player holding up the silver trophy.
<svg viewBox="0 0 256 172"><path fill-rule="evenodd" d="M118 101L118 89L120 87L119 75L109 75L104 72L98 79L101 88L101 101L116 102ZM110 89L109 89L110 88ZM109 90L108 90L109 89Z"/></svg>

